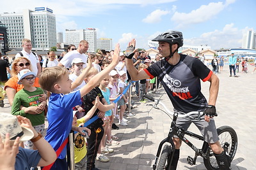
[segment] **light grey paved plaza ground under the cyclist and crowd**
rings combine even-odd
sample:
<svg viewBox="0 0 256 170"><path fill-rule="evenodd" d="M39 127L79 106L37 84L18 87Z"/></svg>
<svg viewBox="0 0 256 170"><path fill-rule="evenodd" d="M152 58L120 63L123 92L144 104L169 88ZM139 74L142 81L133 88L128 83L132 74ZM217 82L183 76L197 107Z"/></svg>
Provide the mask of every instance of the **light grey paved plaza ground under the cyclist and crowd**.
<svg viewBox="0 0 256 170"><path fill-rule="evenodd" d="M220 91L216 109L219 116L214 119L217 127L229 125L237 132L238 148L232 162L232 169L235 170L256 167L256 124L254 122L256 119L256 72L251 74L254 67L248 68L249 73L237 73L238 78L229 77L227 65L224 66L223 72L218 74ZM202 92L208 99L209 82L202 82ZM172 104L163 89L159 89L159 93L152 96L164 101L172 110ZM138 108L132 110L136 116L127 118L129 120L127 127L119 126L119 130L113 130L113 134L119 138L120 145L110 146L115 149L115 152L107 154L109 162L96 161L99 169L152 169L157 147L168 134L171 120L161 111L147 106L150 102L139 104L138 97L132 97L132 100L138 104ZM0 111L10 112L8 100L4 99L4 103L6 105L0 108ZM194 125L191 125L189 130L199 134ZM195 140L191 139L191 141ZM202 146L200 141L195 141L194 144L198 144L196 145L198 147ZM186 161L188 156L194 157L193 150L183 143L177 169L205 169L202 158L198 157L196 165L190 166Z"/></svg>

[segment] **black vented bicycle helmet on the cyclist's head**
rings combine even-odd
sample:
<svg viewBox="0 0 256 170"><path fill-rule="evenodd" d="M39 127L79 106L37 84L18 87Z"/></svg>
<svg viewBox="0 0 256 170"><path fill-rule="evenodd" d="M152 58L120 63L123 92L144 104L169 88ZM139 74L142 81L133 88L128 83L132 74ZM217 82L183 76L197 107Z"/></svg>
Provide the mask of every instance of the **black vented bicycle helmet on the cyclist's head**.
<svg viewBox="0 0 256 170"><path fill-rule="evenodd" d="M152 39L152 41L162 41L167 42L170 45L178 44L179 46L183 45L183 37L182 32L179 31L166 31L157 36L156 38Z"/></svg>

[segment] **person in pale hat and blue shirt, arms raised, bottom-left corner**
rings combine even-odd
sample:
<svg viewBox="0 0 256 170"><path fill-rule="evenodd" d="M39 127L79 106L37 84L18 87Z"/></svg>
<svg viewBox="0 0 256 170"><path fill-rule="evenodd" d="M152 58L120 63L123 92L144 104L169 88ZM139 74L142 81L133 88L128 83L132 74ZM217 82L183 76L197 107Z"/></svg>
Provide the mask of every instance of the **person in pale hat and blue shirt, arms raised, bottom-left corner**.
<svg viewBox="0 0 256 170"><path fill-rule="evenodd" d="M0 113L0 153L6 148L17 149L10 153L15 161L0 159L0 169L30 169L36 166L47 166L56 160L56 153L41 134L35 131L28 118L13 116L9 113ZM18 142L31 140L38 150L28 150L17 147ZM4 147L3 147L4 145Z"/></svg>

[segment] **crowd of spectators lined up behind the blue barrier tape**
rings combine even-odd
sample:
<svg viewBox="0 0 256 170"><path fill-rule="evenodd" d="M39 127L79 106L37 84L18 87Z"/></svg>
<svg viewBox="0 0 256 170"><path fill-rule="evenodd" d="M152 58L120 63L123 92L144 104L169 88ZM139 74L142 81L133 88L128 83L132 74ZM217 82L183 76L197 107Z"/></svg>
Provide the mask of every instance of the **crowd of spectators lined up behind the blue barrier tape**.
<svg viewBox="0 0 256 170"><path fill-rule="evenodd" d="M118 137L111 134L112 129L127 126L127 117L134 116L127 110L136 107L129 103L131 96L124 92L131 80L125 66L125 53L120 52L118 45L111 52L99 50L97 53L88 53L88 42L85 40L77 48L74 45L68 46L67 53L61 53L60 57L49 51L44 60L31 51L29 39L22 40L22 48L11 64L3 60L4 79L1 81L3 92L12 106L12 115L26 118L29 129L35 132L34 136L20 143L19 150L25 148L37 151L26 153L28 157L38 151L41 154L36 143L44 137L56 151L65 143L72 130L77 132L74 138L76 169L97 169L95 159L108 162L106 154L114 152L109 146L120 144ZM145 51L141 51L134 54L134 63L138 69L145 69L154 62L151 62ZM138 81L138 87L135 84L137 82L134 83L135 95L140 96L141 103L145 103L143 94L156 87L154 81ZM113 103L118 96L118 102ZM83 127L84 123L96 115L99 117L97 120ZM46 136L43 136L45 117L49 127ZM86 135L89 137L86 138ZM9 136L2 138L8 141ZM54 157L50 157L54 162L51 169L67 169L66 154L67 148L63 147L55 161ZM22 168L37 169L37 166L45 165L37 159L22 164ZM20 162L16 161L15 167L20 168Z"/></svg>

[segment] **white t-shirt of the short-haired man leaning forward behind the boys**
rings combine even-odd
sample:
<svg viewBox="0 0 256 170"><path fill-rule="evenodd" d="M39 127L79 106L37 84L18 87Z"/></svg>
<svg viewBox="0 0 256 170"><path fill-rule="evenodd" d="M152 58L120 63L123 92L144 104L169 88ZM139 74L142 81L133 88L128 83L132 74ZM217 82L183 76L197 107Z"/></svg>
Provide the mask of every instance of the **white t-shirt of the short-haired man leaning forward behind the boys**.
<svg viewBox="0 0 256 170"><path fill-rule="evenodd" d="M73 50L71 52L66 53L63 59L60 60L60 63L63 64L63 66L65 67L71 67L71 62L75 58L82 59L83 62L85 63L83 66L84 68L86 67L88 55L85 55L84 53L81 54L77 52L77 50Z"/></svg>

